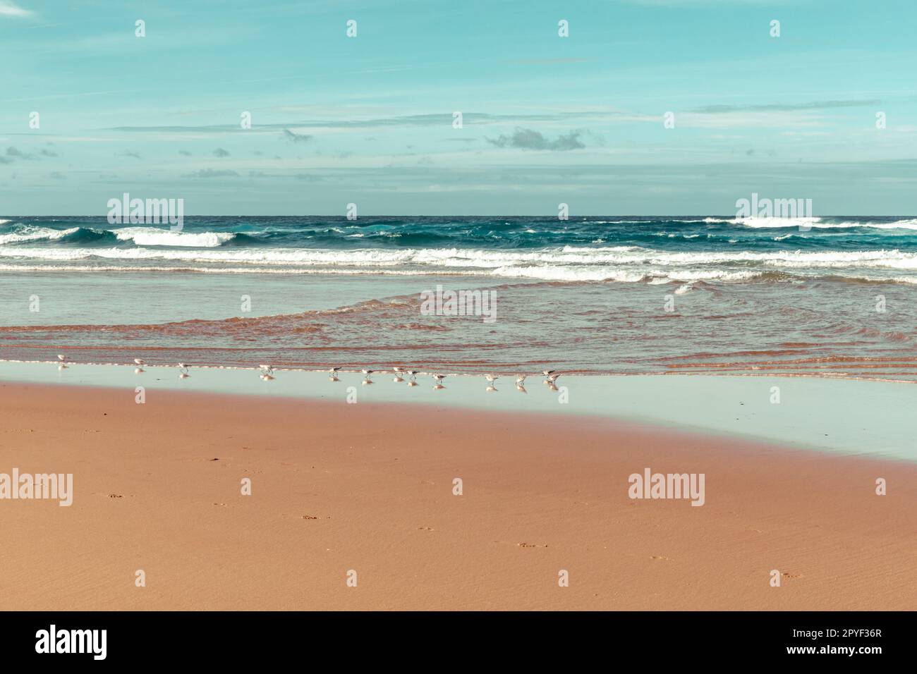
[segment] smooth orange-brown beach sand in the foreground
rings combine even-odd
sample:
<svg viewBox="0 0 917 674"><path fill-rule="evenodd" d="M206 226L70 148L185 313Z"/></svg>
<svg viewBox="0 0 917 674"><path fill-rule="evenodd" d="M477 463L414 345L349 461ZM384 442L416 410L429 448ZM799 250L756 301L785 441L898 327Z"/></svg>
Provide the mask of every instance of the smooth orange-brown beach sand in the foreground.
<svg viewBox="0 0 917 674"><path fill-rule="evenodd" d="M0 410L0 472L74 491L0 501L2 609L917 609L913 464L448 405L6 383ZM704 505L631 500L647 467Z"/></svg>

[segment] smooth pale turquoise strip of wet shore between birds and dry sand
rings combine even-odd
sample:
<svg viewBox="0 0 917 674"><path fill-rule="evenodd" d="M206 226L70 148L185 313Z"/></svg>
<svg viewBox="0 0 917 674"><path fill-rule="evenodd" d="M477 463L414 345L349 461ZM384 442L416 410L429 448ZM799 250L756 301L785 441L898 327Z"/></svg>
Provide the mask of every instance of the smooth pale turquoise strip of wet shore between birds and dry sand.
<svg viewBox="0 0 917 674"><path fill-rule="evenodd" d="M770 376L566 376L550 391L541 376L530 376L526 392L515 378L496 382L488 392L483 377L447 376L434 390L426 374L416 387L374 374L363 385L359 372L337 382L326 372L277 370L263 381L258 370L192 369L179 379L176 368L0 362L0 381L30 381L123 388L133 398L146 389L147 403L173 391L229 392L348 403L419 403L456 409L538 414L600 415L642 424L667 425L726 436L742 436L849 455L917 460L913 410L917 386L883 381L828 380ZM771 403L772 387L779 403ZM567 402L561 402L566 400ZM437 411L436 414L442 414ZM473 417L472 417L473 418Z"/></svg>

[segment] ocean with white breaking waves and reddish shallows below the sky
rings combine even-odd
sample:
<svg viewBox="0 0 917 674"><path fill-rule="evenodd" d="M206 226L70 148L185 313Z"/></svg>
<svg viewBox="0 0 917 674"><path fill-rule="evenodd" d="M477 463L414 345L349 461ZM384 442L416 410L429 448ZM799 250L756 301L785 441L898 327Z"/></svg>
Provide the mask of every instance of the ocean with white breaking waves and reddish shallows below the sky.
<svg viewBox="0 0 917 674"><path fill-rule="evenodd" d="M4 215L0 359L917 381L915 283L911 216Z"/></svg>

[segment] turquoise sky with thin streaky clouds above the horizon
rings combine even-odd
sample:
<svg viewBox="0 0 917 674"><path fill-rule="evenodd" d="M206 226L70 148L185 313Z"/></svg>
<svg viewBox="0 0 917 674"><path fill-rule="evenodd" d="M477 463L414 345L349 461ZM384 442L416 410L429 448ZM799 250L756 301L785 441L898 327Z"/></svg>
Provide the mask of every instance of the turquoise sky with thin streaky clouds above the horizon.
<svg viewBox="0 0 917 674"><path fill-rule="evenodd" d="M915 25L913 0L0 0L0 215L123 193L186 215L726 215L752 193L917 214Z"/></svg>

